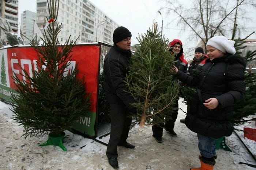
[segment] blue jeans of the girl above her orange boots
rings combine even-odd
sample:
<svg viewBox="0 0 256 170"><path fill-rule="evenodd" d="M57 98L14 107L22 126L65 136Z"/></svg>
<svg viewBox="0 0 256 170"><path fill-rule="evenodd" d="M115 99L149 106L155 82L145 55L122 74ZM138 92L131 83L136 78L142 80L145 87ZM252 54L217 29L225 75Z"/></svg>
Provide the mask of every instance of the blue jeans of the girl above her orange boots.
<svg viewBox="0 0 256 170"><path fill-rule="evenodd" d="M200 153L203 157L212 158L216 155L216 148L215 148L215 138L206 137L201 134L197 134L198 138L198 148Z"/></svg>

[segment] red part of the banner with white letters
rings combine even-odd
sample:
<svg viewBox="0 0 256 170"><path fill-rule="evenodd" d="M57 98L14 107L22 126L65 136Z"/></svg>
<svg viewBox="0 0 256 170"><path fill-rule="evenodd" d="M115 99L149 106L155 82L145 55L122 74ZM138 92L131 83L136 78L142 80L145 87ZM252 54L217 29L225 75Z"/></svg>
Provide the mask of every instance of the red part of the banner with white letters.
<svg viewBox="0 0 256 170"><path fill-rule="evenodd" d="M78 64L78 78L84 76L86 92L91 94L91 112L96 112L99 46L76 45L71 55L72 61L70 68ZM33 76L31 70L41 69L37 66L37 59L38 56L33 47L14 47L7 49L8 80L10 81L10 88L15 88L14 80L11 78L14 74L16 74L19 79L25 79L25 77L22 76L22 68L25 69L30 76Z"/></svg>

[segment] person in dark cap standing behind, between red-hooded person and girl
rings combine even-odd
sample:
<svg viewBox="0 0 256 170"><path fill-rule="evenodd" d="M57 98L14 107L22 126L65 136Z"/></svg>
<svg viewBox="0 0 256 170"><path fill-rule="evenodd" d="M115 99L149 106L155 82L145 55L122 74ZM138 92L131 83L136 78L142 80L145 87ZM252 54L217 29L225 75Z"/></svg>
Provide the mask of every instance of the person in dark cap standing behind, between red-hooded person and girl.
<svg viewBox="0 0 256 170"><path fill-rule="evenodd" d="M195 74L199 74L199 71L202 70L203 65L208 58L207 55L204 54L204 50L202 47L197 47L195 50L195 57L188 67L188 73L191 76L195 76ZM192 88L192 87L188 87ZM191 89L192 90L192 89ZM187 113L189 113L190 102L187 103ZM181 123L185 123L185 119L180 119Z"/></svg>

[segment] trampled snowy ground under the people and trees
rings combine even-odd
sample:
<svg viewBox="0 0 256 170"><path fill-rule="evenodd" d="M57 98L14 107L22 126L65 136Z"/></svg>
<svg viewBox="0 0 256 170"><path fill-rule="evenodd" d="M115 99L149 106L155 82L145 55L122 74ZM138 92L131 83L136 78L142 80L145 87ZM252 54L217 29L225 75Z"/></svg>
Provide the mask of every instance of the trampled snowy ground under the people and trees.
<svg viewBox="0 0 256 170"><path fill-rule="evenodd" d="M180 102L182 110L185 104ZM0 170L108 170L112 167L106 157L106 146L93 139L83 138L79 135L65 131L63 151L58 146L38 146L47 140L44 137L20 137L23 128L10 119L12 113L10 105L0 102ZM135 149L118 147L119 169L136 170L188 170L199 166L196 134L187 129L180 119L185 114L179 110L174 130L177 137L171 137L164 131L163 143L157 143L152 137L151 126L142 131L133 127L129 133L128 141L136 145ZM243 125L244 126L244 125ZM239 127L242 129L242 127ZM246 124L246 126L249 126ZM253 124L255 126L255 124ZM243 134L239 133L243 138ZM108 142L109 137L102 140ZM243 139L246 141L246 139ZM256 148L255 141L249 141L250 147ZM252 156L233 133L226 138L226 144L232 152L217 150L217 160L214 169L218 170L253 170L255 168L239 162L256 165Z"/></svg>

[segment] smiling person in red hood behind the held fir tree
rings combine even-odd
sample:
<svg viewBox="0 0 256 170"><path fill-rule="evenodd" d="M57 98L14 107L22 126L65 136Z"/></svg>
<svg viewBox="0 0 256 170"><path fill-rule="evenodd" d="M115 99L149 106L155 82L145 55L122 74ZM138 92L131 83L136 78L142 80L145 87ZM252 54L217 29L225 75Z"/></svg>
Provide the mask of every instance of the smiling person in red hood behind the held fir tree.
<svg viewBox="0 0 256 170"><path fill-rule="evenodd" d="M184 59L183 55L183 48L182 48L182 42L179 39L174 39L170 42L169 44L169 51L171 54L174 54L174 61L175 66L181 70L182 72L187 72L188 69L188 62L187 60ZM173 76L173 80L176 79L176 76ZM178 97L179 98L179 97ZM169 114L171 115L172 119L164 119L163 118L163 123L162 124L153 124L152 126L152 131L153 131L153 137L158 143L162 143L162 135L163 135L163 128L165 128L166 131L169 132L170 135L172 136L177 136L177 134L174 132L174 122L177 119L178 115L178 98L175 101L175 104L173 106L173 111L170 111Z"/></svg>

